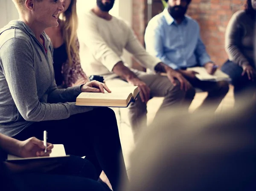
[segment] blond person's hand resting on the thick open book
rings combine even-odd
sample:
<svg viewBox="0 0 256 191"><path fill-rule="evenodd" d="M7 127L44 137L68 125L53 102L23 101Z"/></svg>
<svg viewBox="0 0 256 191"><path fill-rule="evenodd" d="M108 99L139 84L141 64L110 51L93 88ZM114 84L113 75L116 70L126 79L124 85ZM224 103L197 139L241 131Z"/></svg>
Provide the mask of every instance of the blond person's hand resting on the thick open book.
<svg viewBox="0 0 256 191"><path fill-rule="evenodd" d="M98 82L96 80L87 82L81 87L81 92L101 92L105 93L104 89L108 92L111 93L110 89L105 83Z"/></svg>

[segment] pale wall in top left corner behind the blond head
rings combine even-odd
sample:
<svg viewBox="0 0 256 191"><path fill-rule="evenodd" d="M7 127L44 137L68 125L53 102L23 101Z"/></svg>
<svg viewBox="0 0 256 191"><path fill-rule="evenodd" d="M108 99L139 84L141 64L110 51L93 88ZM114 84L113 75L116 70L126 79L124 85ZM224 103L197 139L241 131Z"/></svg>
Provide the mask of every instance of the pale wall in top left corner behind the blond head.
<svg viewBox="0 0 256 191"><path fill-rule="evenodd" d="M18 18L19 14L12 0L0 0L0 28Z"/></svg>

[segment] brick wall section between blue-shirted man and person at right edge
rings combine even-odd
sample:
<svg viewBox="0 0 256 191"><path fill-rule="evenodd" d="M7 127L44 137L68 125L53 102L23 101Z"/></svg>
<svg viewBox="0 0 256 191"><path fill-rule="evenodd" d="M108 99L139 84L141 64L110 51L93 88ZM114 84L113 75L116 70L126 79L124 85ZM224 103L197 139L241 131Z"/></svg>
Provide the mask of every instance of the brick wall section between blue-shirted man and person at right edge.
<svg viewBox="0 0 256 191"><path fill-rule="evenodd" d="M192 0L188 14L198 21L201 37L212 60L222 65L227 60L224 37L232 14L244 9L245 0Z"/></svg>

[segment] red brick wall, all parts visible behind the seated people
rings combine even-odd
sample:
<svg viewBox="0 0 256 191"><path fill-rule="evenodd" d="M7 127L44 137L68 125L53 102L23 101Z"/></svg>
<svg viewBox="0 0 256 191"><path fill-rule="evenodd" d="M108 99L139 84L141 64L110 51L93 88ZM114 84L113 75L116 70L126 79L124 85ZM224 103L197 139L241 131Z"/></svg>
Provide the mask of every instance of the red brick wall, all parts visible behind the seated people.
<svg viewBox="0 0 256 191"><path fill-rule="evenodd" d="M147 0L133 0L133 29L144 45L144 32L147 24ZM224 49L224 36L232 14L244 8L245 0L192 0L188 14L198 21L201 37L212 60L221 65L227 60ZM153 0L152 16L160 13L163 6L160 0ZM139 65L134 62L134 68Z"/></svg>

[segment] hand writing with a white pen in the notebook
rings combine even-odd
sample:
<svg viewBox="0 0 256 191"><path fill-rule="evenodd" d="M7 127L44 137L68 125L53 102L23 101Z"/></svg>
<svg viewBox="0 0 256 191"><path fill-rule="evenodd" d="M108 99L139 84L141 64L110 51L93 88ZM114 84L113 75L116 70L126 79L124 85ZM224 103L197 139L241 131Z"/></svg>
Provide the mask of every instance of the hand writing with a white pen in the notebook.
<svg viewBox="0 0 256 191"><path fill-rule="evenodd" d="M31 137L25 141L17 140L17 153L18 157L46 157L52 152L53 145L47 143L47 153L44 153L44 142L35 137Z"/></svg>

